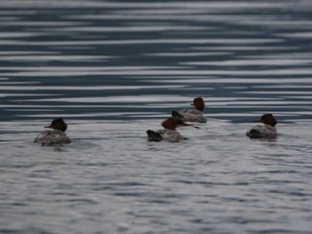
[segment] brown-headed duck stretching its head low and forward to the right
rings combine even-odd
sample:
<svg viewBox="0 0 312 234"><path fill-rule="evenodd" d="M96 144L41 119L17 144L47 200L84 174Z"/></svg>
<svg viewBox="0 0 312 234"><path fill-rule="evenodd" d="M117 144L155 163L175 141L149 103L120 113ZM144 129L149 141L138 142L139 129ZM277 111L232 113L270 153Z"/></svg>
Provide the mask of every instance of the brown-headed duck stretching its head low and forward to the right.
<svg viewBox="0 0 312 234"><path fill-rule="evenodd" d="M153 131L153 130L147 130L147 140L148 141L162 141L166 140L168 142L179 142L182 140L185 140L186 138L179 133L176 129L178 127L183 126L193 126L193 124L185 123L185 121L178 120L173 117L169 117L166 121L163 121L161 123L161 126L163 129Z"/></svg>

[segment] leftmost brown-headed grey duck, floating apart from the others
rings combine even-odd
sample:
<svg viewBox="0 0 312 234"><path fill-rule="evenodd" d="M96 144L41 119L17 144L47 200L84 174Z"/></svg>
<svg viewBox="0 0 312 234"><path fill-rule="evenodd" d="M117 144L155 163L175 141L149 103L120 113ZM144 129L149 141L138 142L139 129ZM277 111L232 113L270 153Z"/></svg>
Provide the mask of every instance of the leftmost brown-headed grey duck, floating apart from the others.
<svg viewBox="0 0 312 234"><path fill-rule="evenodd" d="M37 138L35 138L35 143L40 143L42 146L54 146L58 144L69 144L71 142L70 138L66 135L67 124L62 118L54 119L50 125L45 126L49 130L44 130L41 132Z"/></svg>

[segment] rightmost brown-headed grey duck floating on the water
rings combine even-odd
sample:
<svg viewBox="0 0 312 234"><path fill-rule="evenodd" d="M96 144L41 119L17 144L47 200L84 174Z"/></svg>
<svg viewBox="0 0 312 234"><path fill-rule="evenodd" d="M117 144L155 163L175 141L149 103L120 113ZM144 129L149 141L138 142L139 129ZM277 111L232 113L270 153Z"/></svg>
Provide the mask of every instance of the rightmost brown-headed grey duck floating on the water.
<svg viewBox="0 0 312 234"><path fill-rule="evenodd" d="M246 136L249 138L276 138L277 130L275 125L277 121L272 113L265 113L261 116L258 124L253 126L246 132Z"/></svg>

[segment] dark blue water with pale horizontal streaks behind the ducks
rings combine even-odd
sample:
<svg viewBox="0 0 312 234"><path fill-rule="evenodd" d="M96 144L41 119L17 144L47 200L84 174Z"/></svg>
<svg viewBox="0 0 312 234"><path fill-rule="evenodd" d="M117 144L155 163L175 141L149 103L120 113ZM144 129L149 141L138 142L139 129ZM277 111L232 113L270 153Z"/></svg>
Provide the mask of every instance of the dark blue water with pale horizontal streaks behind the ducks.
<svg viewBox="0 0 312 234"><path fill-rule="evenodd" d="M263 112L310 119L311 8L309 1L5 1L1 120L56 111L71 119L158 118L194 96L229 121Z"/></svg>

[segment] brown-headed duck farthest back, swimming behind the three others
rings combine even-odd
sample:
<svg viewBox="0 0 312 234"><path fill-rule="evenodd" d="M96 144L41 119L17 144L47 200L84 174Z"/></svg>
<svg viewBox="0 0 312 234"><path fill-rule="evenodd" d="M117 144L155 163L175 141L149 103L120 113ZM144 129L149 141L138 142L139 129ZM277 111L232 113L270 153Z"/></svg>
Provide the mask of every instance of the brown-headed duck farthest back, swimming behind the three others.
<svg viewBox="0 0 312 234"><path fill-rule="evenodd" d="M205 109L205 102L203 101L201 96L194 98L192 105L194 107L193 109L182 109L178 112L173 111L171 115L174 118L183 121L206 123L207 118L203 114L203 111Z"/></svg>

